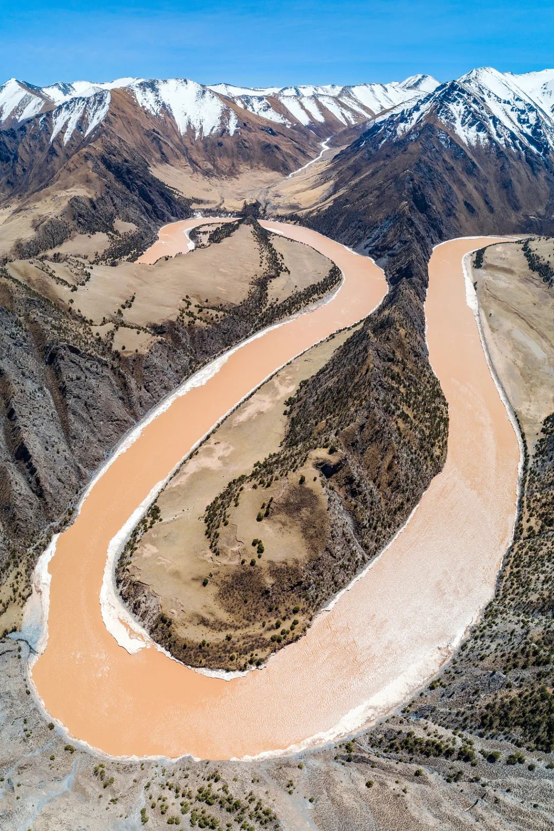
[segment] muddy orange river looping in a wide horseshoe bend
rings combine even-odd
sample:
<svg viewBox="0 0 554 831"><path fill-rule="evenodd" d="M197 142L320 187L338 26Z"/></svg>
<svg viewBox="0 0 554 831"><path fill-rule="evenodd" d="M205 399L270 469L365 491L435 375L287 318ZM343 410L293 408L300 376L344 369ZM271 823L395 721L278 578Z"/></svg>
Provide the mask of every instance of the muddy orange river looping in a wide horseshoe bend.
<svg viewBox="0 0 554 831"><path fill-rule="evenodd" d="M166 226L143 258L186 250ZM96 479L76 521L37 573L47 643L32 681L77 740L111 755L228 759L323 743L400 704L451 654L492 596L512 535L519 452L466 303L463 255L486 239L435 248L426 302L429 356L449 402L448 459L405 529L296 643L262 670L223 681L150 644L120 647L101 614L106 552L137 506L191 447L264 378L336 329L365 317L386 286L379 268L292 225L263 223L341 268L329 302L228 354L174 398ZM45 638L46 640L46 638ZM142 646L143 644L141 644Z"/></svg>

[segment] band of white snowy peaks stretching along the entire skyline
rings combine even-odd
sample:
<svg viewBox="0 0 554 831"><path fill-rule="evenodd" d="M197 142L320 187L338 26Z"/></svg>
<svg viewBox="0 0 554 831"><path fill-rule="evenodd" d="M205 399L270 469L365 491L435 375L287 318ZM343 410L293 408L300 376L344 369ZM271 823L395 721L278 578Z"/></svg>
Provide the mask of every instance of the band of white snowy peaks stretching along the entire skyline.
<svg viewBox="0 0 554 831"><path fill-rule="evenodd" d="M429 75L386 84L282 87L204 86L186 78L39 87L12 78L0 86L0 124L16 125L51 112L52 140L61 134L67 142L76 131L91 135L108 113L113 90L128 91L141 110L169 120L180 135L194 140L218 131L234 135L243 111L323 136L376 118L387 140L436 120L466 145L512 145L540 154L554 149L554 70L514 75L491 66L445 84Z"/></svg>

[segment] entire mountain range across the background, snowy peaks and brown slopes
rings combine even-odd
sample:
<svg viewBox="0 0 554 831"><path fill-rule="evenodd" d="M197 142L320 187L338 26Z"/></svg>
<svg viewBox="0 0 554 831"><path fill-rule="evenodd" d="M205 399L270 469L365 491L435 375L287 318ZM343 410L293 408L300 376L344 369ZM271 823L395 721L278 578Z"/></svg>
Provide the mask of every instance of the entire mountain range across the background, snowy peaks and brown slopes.
<svg viewBox="0 0 554 831"><path fill-rule="evenodd" d="M490 67L352 86L11 79L0 86L0 254L114 233L116 219L135 227L131 254L195 208L256 198L272 209L271 185L322 140L336 155L314 200L288 213L366 250L403 202L428 213L436 240L477 225L540 231L554 194L553 91L554 70Z"/></svg>

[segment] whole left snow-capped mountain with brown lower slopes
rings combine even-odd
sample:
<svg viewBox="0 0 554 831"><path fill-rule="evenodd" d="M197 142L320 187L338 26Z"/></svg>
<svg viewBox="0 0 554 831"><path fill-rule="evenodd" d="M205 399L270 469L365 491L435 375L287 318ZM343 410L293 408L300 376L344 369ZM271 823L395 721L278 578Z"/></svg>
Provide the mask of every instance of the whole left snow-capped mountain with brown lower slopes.
<svg viewBox="0 0 554 831"><path fill-rule="evenodd" d="M111 198L125 201L128 189L140 191L149 168L161 168L179 184L183 177L220 179L255 170L288 175L313 159L321 139L341 125L330 115L321 135L284 120L276 123L180 78L124 81L121 86L81 81L45 89L17 81L4 85L0 200L24 198L56 177L56 187L63 181L67 189L81 176L95 197L107 193L102 182L108 182ZM162 194L161 183L157 187ZM194 184L200 199L201 191ZM160 196L161 202L167 199L173 197Z"/></svg>

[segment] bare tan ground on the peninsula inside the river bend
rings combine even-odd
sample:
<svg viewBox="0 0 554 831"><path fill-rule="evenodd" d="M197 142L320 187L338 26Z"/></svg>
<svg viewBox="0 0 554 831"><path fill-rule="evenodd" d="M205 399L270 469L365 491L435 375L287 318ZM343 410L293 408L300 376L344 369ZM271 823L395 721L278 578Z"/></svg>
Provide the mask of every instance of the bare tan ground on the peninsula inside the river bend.
<svg viewBox="0 0 554 831"><path fill-rule="evenodd" d="M212 643L223 640L227 632L235 635L236 624L222 607L218 589L230 570L240 568L242 559L249 563L255 558L257 569L266 575L270 563L303 559L312 553L312 546L303 533L308 523L302 511L293 510L291 514L280 499L286 479L277 481L271 489L252 489L249 485L245 488L238 509L231 509L229 524L221 529L219 557L209 549L202 516L206 505L230 479L249 473L256 461L278 450L287 424L284 401L294 394L300 381L329 360L351 333L352 330L341 332L331 341L313 347L267 381L214 430L160 494L157 504L161 522L140 538L131 573L159 597L161 611L174 619L177 635L198 641L204 638ZM326 496L319 478L313 481L316 471L308 463L306 470L298 470L288 478L297 484L303 473L306 475L303 488L313 493L316 504L321 506L323 530L327 522ZM272 514L258 523L260 504L271 497ZM313 505L310 511L313 521ZM262 538L264 544L265 550L259 558L256 548L252 548L254 538ZM204 587L203 578L208 573L213 573L213 578ZM259 634L262 617L252 627L245 626L241 620L237 635L254 631ZM302 619L300 612L297 617ZM272 631L266 627L263 632L269 641Z"/></svg>

